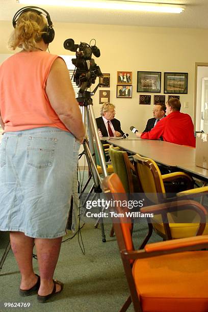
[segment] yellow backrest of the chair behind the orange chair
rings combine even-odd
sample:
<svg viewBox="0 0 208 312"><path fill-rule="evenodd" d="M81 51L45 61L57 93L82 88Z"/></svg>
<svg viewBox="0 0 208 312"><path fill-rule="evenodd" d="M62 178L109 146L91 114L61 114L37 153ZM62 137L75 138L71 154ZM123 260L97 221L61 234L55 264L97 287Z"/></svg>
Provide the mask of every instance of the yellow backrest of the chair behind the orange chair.
<svg viewBox="0 0 208 312"><path fill-rule="evenodd" d="M158 165L149 158L134 155L136 173L140 179L142 189L147 197L154 203L159 202L159 194L165 195L165 187ZM149 195L148 195L149 194ZM153 196L155 194L155 196ZM162 195L163 197L163 195Z"/></svg>

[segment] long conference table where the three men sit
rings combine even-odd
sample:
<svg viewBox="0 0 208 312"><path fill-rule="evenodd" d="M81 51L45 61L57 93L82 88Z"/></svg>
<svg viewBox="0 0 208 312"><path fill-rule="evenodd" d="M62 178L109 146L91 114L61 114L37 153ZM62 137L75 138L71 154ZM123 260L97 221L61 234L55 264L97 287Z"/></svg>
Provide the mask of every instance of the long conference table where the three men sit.
<svg viewBox="0 0 208 312"><path fill-rule="evenodd" d="M104 138L103 138L104 139ZM120 147L131 154L140 154L154 160L157 164L184 171L193 177L208 182L208 170L195 165L196 149L160 140L105 138L110 144Z"/></svg>

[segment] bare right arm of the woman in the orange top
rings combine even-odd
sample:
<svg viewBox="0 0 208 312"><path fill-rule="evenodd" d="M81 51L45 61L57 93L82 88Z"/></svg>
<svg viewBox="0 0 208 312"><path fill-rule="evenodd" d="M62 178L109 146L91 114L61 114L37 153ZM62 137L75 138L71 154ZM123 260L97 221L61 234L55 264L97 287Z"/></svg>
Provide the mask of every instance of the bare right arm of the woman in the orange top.
<svg viewBox="0 0 208 312"><path fill-rule="evenodd" d="M45 91L60 120L82 142L85 136L82 114L75 99L68 69L61 58L56 59L51 66Z"/></svg>

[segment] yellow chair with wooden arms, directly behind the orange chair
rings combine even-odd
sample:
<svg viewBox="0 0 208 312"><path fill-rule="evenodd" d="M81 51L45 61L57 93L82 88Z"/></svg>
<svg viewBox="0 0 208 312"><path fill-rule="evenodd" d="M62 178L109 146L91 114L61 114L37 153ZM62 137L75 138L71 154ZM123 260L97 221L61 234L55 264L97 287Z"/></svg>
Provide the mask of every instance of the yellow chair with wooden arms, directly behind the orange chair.
<svg viewBox="0 0 208 312"><path fill-rule="evenodd" d="M141 157L139 154L136 154L133 158L143 192L152 204L167 201L164 181L183 179L187 182L188 188L193 186L192 178L184 172L173 172L161 175L158 165L153 160ZM187 198L189 196L193 198L194 196L196 197L206 193L208 193L208 187L179 192L176 196L179 200L181 197ZM164 240L186 238L202 234L198 216L193 211L169 213L167 220L163 220L162 215L158 214L157 216L154 215L154 218L149 219L148 222L152 224L154 231ZM149 240L151 233L152 228L149 227L149 233L143 242L142 247ZM208 226L205 227L203 234L208 234Z"/></svg>

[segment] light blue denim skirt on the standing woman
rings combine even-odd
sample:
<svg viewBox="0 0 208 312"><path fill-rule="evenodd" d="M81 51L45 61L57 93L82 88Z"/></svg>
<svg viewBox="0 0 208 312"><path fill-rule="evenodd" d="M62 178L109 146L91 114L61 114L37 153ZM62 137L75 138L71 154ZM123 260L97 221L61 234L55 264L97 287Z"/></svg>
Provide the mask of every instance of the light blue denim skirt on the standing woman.
<svg viewBox="0 0 208 312"><path fill-rule="evenodd" d="M32 238L58 238L77 226L74 136L54 127L3 135L0 146L0 230ZM73 207L70 211L71 197Z"/></svg>

